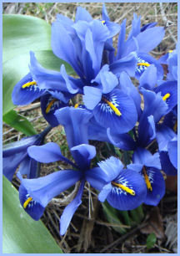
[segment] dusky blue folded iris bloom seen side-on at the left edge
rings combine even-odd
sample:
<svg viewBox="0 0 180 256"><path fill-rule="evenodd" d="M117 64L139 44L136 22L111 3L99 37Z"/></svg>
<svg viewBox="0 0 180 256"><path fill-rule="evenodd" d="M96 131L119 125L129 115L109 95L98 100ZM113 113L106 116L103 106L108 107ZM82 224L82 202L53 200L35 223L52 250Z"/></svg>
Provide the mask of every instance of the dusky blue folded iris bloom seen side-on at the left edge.
<svg viewBox="0 0 180 256"><path fill-rule="evenodd" d="M32 145L42 145L44 136L52 129L47 127L42 133L35 136L28 136L21 141L16 141L3 146L2 150L2 173L11 182L13 174L18 166L21 174L26 174L28 178L37 177L37 161L28 156L28 147Z"/></svg>

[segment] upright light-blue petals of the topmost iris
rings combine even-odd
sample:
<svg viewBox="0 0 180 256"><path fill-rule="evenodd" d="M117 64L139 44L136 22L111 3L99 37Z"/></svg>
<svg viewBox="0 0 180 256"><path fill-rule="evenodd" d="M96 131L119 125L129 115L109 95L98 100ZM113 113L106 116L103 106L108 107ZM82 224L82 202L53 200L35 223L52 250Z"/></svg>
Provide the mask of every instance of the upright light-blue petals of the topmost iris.
<svg viewBox="0 0 180 256"><path fill-rule="evenodd" d="M85 84L96 77L101 69L106 42L120 29L118 24L108 20L104 8L102 13L105 20L93 20L85 9L77 8L75 22L58 15L52 23L53 53L71 64Z"/></svg>

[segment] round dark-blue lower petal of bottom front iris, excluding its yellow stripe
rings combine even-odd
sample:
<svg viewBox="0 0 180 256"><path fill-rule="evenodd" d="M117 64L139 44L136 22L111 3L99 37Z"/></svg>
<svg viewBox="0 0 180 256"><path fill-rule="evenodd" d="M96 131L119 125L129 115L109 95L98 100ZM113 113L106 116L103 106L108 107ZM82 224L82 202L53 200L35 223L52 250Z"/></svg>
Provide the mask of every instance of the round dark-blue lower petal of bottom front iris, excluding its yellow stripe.
<svg viewBox="0 0 180 256"><path fill-rule="evenodd" d="M128 169L122 170L114 182L133 189L135 195L133 196L122 190L122 188L112 185L112 191L107 196L107 202L112 207L121 211L128 211L133 210L144 202L147 196L147 188L143 177L138 172Z"/></svg>

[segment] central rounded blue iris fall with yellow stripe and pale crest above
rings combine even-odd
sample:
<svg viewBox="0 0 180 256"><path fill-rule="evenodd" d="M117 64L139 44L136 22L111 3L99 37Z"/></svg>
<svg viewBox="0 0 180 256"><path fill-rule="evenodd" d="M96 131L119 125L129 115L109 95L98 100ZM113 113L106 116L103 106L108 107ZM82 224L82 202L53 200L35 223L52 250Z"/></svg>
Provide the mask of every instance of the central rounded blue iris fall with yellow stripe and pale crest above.
<svg viewBox="0 0 180 256"><path fill-rule="evenodd" d="M136 100L119 88L117 76L104 65L92 82L94 86L84 87L83 101L87 109L92 110L97 123L118 133L133 129L138 120Z"/></svg>

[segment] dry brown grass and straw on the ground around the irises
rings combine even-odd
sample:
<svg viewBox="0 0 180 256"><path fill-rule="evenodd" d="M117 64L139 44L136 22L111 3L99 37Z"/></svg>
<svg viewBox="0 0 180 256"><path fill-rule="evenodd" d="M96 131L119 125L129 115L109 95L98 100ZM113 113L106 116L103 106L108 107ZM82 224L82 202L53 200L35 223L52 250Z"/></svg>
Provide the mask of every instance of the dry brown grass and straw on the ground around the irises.
<svg viewBox="0 0 180 256"><path fill-rule="evenodd" d="M36 16L52 23L57 13L62 13L69 18L75 18L76 8L81 5L87 8L93 18L101 18L102 3L3 3L3 13L18 13ZM167 26L163 42L153 50L153 55L158 58L165 51L174 49L178 37L178 4L177 3L106 3L107 12L112 21L122 23L127 18L128 31L131 29L133 13L142 16L142 24L158 22L159 26ZM40 107L32 109L20 109L27 116L37 131L42 131L47 122L43 119ZM15 131L7 125L3 125L3 142L18 141L23 134ZM62 148L62 154L70 157L66 136L61 126L54 128L47 136L47 141L57 142ZM101 146L99 146L99 151ZM42 175L54 170L66 169L68 166L62 162L56 165L42 165ZM13 182L18 186L14 177ZM59 200L67 197L70 192L64 192ZM97 201L96 191L90 189L88 184L82 197L82 205L72 218L72 223L64 237L59 236L59 217L62 214L64 204L52 201L42 217L52 236L63 249L64 253L172 253L172 247L166 240L158 239L155 248L147 251L147 236L141 233L141 229L148 225L146 218L139 227L128 229L128 233L120 236L112 229L112 224L107 223L103 215L100 202ZM92 211L92 208L94 209ZM147 213L152 207L144 207ZM172 209L173 212L170 212ZM160 214L163 216L163 225L166 228L167 219L177 212L177 197L167 192L159 206ZM170 243L171 244L171 243Z"/></svg>

